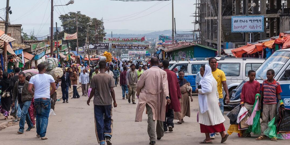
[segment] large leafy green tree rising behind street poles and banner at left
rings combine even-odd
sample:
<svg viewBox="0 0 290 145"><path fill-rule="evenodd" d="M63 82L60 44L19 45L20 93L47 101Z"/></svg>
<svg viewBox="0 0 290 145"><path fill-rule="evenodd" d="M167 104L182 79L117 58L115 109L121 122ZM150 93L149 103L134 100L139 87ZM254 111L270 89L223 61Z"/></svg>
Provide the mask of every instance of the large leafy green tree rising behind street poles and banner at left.
<svg viewBox="0 0 290 145"><path fill-rule="evenodd" d="M60 15L59 19L61 20L63 31L59 32L58 39L64 37L64 32L68 34L73 34L77 32L77 23L76 19L79 23L78 27L78 38L79 38L79 47L84 46L86 42L86 31L87 31L87 23L92 22L93 24L89 26L89 42L90 43L102 43L103 37L106 36L106 32L104 32L104 23L97 18L90 18L85 14L81 14L80 11L77 12L69 12L64 15ZM96 35L97 33L97 35ZM54 36L56 40L56 35ZM69 40L72 48L77 47L77 40Z"/></svg>

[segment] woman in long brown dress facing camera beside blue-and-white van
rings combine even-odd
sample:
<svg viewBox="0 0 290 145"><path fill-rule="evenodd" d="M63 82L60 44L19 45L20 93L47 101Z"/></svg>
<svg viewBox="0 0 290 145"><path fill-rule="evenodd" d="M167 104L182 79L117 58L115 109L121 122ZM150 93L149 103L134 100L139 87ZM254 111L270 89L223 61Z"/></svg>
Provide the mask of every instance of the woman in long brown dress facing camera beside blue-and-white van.
<svg viewBox="0 0 290 145"><path fill-rule="evenodd" d="M184 122L183 118L185 116L190 117L189 95L191 102L193 102L193 98L191 96L192 88L190 86L190 83L186 79L184 79L184 72L182 70L178 72L178 76L179 76L178 83L181 92L181 99L179 100L181 111L174 113L174 119L179 120L177 122L178 124L182 124Z"/></svg>

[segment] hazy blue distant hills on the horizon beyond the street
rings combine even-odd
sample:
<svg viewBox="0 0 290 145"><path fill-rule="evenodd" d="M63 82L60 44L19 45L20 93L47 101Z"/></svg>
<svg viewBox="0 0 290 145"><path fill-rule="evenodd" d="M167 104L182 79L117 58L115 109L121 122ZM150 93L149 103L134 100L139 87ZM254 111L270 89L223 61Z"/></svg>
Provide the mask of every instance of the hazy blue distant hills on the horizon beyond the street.
<svg viewBox="0 0 290 145"><path fill-rule="evenodd" d="M159 37L159 35L165 35L165 36L171 36L172 31L171 30L157 30L157 31L146 31L146 30L116 30L116 31L109 31L105 30L107 32L107 37L111 37L111 32L113 32L113 37L120 37L120 38L132 38L132 37L141 37L145 36L146 38L152 38L156 39ZM185 32L185 31L191 31L191 30L177 30L177 34L186 34L186 33L191 33L191 32ZM120 33L115 33L115 32L120 32ZM124 32L124 33L122 33Z"/></svg>

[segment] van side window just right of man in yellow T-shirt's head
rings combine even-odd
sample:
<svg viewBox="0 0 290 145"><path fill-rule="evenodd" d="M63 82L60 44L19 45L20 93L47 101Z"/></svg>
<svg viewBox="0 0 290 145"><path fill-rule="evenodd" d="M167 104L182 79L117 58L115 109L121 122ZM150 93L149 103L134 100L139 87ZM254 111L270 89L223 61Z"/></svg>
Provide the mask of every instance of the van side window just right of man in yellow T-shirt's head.
<svg viewBox="0 0 290 145"><path fill-rule="evenodd" d="M240 76L240 63L218 63L218 69L222 70L226 77Z"/></svg>

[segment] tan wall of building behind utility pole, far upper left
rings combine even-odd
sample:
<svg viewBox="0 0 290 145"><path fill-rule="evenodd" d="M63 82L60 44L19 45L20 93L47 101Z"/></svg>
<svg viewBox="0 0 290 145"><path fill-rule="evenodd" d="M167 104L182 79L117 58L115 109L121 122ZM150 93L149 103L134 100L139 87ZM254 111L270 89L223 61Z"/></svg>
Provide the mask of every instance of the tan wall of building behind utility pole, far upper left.
<svg viewBox="0 0 290 145"><path fill-rule="evenodd" d="M16 39L15 41L12 42L12 44L21 44L22 39L21 39L21 24L19 25L11 25L8 27L8 33L11 34L11 37ZM5 31L5 21L0 21L0 30ZM18 31L20 30L20 31Z"/></svg>

